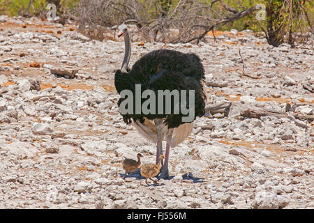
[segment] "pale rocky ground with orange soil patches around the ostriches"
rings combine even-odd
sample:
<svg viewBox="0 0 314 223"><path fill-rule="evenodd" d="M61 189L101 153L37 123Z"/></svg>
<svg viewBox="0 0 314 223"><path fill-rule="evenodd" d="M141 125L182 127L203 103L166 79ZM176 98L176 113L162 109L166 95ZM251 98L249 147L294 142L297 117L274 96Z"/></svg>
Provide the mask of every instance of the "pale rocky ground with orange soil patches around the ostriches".
<svg viewBox="0 0 314 223"><path fill-rule="evenodd" d="M314 94L302 85L314 83L313 45L274 48L248 30L216 38L133 43L131 64L153 49L195 52L207 104L232 102L228 116L197 118L170 152L172 178L148 186L139 173L123 180L124 157L156 159L118 112L124 43L1 16L0 208L314 208L314 122L293 116L313 115ZM285 112L287 103L296 107L284 118L239 116Z"/></svg>

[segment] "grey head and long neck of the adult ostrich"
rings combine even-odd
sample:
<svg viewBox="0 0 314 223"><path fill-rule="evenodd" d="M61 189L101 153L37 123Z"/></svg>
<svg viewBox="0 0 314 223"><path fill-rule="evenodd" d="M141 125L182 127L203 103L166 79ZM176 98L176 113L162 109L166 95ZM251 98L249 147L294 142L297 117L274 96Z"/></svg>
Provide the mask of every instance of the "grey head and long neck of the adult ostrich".
<svg viewBox="0 0 314 223"><path fill-rule="evenodd" d="M128 32L128 26L126 24L121 24L118 26L118 37L124 36L124 61L122 62L121 71L127 72L128 70L128 62L130 62L130 54L131 54L131 42L130 35Z"/></svg>

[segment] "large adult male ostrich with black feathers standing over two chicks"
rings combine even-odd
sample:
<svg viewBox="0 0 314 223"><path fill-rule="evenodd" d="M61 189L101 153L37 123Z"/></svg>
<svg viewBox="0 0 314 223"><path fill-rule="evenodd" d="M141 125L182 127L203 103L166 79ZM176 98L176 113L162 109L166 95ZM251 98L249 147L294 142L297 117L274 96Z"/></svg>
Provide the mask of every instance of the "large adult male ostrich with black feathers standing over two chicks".
<svg viewBox="0 0 314 223"><path fill-rule="evenodd" d="M156 164L159 162L160 155L163 154L163 139L164 137L166 138L165 160L160 177L169 178L168 161L170 147L177 146L181 141L184 141L193 130L195 117L203 116L205 112L204 100L206 97L202 86L202 82L204 82L204 68L199 57L195 54L184 54L174 50L160 49L145 54L129 69L131 42L128 26L121 24L118 29L118 37L124 36L125 43L121 70L117 70L114 76L114 84L119 94L123 90L132 91L134 102L137 97L141 106L144 100L140 95L136 95L135 84L140 84L141 93L148 89L154 91L156 95L158 90L169 90L171 92L174 90L188 91L186 95L180 95L180 100L177 100L177 102L171 102L171 113L165 112L166 107L169 109L169 105L165 106L163 102L163 104L156 103L156 112L151 112L150 114L136 113L135 108L133 108L134 112L132 114L121 114L125 123L129 124L132 122L142 136L157 144ZM194 94L194 103L189 105L189 101L187 101L185 105L188 108L194 108L193 120L184 122L182 118L186 117L187 114L181 111L179 114L174 112L174 106L177 106L178 103L181 106L181 98L188 99L190 92ZM120 98L118 105L124 100ZM158 110L160 107L163 108L161 113Z"/></svg>

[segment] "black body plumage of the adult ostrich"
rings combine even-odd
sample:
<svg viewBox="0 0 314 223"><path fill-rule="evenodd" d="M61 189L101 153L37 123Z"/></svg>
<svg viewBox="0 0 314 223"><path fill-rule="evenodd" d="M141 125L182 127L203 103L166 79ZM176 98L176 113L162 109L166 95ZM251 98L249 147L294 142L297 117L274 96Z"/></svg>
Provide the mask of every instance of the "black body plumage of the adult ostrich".
<svg viewBox="0 0 314 223"><path fill-rule="evenodd" d="M165 114L165 100L163 100L163 114L158 114L157 95L158 90L187 90L186 94L186 108L188 109L189 90L195 92L195 116L204 115L205 95L202 86L204 82L204 68L200 59L195 54L184 54L169 49L160 49L149 52L142 56L133 67L127 72L117 70L114 76L114 84L118 91L128 89L135 95L135 84L140 84L141 93L147 89L155 92L156 95L156 112L155 114L135 114L135 107L133 107L133 114L122 115L126 123L130 123L131 119L134 121L144 122L144 117L149 120L154 118L164 118L168 128L177 128L182 124L182 117L188 114L182 114L181 109L179 114L174 114L174 100L172 98L171 114ZM119 99L118 105L121 104L123 98ZM133 98L135 105L135 96ZM142 103L147 98L141 99ZM181 102L181 95L180 100Z"/></svg>

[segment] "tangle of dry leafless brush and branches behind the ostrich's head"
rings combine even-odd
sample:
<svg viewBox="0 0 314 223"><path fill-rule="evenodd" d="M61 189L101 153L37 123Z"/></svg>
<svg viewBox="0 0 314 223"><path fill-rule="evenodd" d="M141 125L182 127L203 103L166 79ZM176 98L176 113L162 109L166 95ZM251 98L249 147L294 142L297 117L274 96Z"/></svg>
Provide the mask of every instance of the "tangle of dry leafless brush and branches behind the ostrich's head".
<svg viewBox="0 0 314 223"><path fill-rule="evenodd" d="M216 4L214 4L216 3ZM155 13L151 13L154 5ZM98 26L112 27L125 21L137 26L140 34L137 39L160 41L163 43L190 43L204 40L209 31L217 26L234 22L255 10L252 8L232 8L223 0L207 1L180 0L167 1L113 1L81 0L75 16L80 17L80 27L98 29ZM172 33L174 32L174 33ZM214 34L214 33L213 33ZM214 38L215 34L214 34Z"/></svg>

